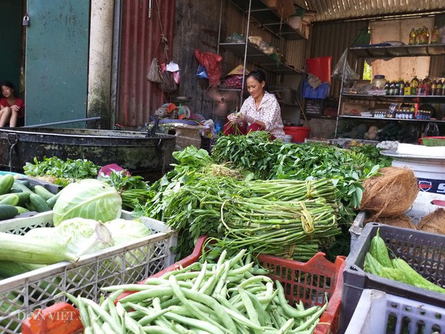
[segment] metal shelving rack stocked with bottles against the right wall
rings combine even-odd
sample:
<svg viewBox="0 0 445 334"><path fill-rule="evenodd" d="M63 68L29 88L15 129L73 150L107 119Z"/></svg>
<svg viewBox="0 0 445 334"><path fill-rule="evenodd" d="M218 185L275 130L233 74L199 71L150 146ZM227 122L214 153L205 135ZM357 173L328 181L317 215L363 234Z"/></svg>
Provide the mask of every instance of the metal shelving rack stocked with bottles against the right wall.
<svg viewBox="0 0 445 334"><path fill-rule="evenodd" d="M445 45L369 45L365 47L350 47L348 53L353 54L357 58L381 58L385 60L396 57L445 57ZM345 61L343 69L346 70L347 65ZM343 70L343 73L345 73L345 70ZM410 132L416 132L415 136L406 139L407 142L416 142L422 136L429 122L436 123L439 128L445 126L445 120L439 117L438 112L437 117L431 117L431 110L434 110L431 109L431 104L442 104L445 101L445 95L442 95L442 93L439 95L437 91L431 91L430 93L424 92L428 95L423 95L423 92L419 94L412 89L406 93L401 90L398 92L368 90L366 93L362 93L363 89L361 88L366 88L366 85L369 85L369 81L355 80L352 85L350 82L347 83L347 81L347 78L343 75L341 78L342 88L339 97L335 138L342 136L341 132L339 132L342 122L353 124L361 122L367 125L374 123L373 125L379 126L385 126L389 122L396 122L400 129L409 128Z"/></svg>

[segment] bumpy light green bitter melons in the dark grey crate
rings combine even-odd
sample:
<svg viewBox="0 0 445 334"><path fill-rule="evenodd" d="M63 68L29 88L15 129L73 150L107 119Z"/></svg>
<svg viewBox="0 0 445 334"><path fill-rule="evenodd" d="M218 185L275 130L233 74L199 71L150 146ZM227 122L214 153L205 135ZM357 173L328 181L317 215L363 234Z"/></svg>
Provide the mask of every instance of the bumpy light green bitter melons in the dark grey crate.
<svg viewBox="0 0 445 334"><path fill-rule="evenodd" d="M371 239L369 252L365 255L364 271L390 280L397 280L415 287L445 294L443 287L435 285L421 276L405 260L396 256L391 259L385 240L379 235L379 230Z"/></svg>

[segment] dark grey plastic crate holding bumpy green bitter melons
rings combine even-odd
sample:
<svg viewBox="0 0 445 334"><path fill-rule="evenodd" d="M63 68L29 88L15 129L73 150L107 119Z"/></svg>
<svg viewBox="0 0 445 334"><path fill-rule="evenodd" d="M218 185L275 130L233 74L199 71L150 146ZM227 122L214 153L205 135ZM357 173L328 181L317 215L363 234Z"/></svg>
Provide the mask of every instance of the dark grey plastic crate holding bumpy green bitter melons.
<svg viewBox="0 0 445 334"><path fill-rule="evenodd" d="M371 275L363 271L364 257L378 228L387 247L433 283L445 286L445 235L367 223L343 271L339 333L349 324L364 289L378 289L394 296L445 308L445 294ZM389 252L391 253L391 252Z"/></svg>

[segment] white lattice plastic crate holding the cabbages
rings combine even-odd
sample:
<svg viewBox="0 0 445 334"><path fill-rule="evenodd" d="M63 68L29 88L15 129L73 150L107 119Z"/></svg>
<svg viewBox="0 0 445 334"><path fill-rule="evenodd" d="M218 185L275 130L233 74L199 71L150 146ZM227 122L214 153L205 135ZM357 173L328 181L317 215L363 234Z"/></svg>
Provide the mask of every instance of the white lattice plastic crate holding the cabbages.
<svg viewBox="0 0 445 334"><path fill-rule="evenodd" d="M11 219L0 223L0 231L24 234L31 228L52 226L52 217L51 211ZM121 218L133 217L122 211ZM177 244L177 234L161 221L147 217L140 220L152 234L137 242L83 255L77 262L59 262L0 280L0 332L21 333L21 321L33 310L67 301L60 292L99 301L100 287L136 283L173 264L175 254L170 249Z"/></svg>

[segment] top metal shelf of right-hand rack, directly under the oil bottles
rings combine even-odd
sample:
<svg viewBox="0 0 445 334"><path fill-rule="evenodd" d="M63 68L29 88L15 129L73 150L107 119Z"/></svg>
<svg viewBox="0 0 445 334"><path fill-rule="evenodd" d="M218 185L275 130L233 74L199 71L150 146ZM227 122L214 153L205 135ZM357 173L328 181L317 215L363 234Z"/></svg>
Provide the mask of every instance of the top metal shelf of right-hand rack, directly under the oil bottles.
<svg viewBox="0 0 445 334"><path fill-rule="evenodd" d="M358 58L442 56L445 54L445 44L367 45L351 47L349 52Z"/></svg>

